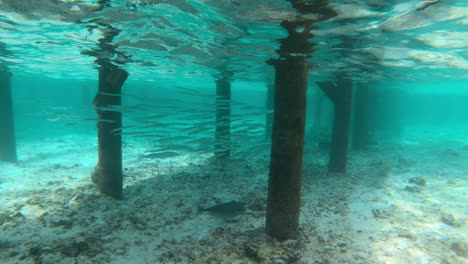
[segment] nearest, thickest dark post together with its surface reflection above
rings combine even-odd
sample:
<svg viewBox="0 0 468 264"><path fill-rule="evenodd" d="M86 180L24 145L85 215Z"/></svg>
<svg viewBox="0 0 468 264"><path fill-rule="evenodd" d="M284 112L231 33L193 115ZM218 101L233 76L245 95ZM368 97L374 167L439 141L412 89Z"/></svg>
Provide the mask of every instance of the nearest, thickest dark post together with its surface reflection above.
<svg viewBox="0 0 468 264"><path fill-rule="evenodd" d="M266 232L278 239L299 235L302 162L309 65L307 58L314 44L309 40L312 24L335 16L327 1L289 0L300 13L313 18L283 21L288 36L280 40L279 58L270 60L275 67L273 131L268 181Z"/></svg>

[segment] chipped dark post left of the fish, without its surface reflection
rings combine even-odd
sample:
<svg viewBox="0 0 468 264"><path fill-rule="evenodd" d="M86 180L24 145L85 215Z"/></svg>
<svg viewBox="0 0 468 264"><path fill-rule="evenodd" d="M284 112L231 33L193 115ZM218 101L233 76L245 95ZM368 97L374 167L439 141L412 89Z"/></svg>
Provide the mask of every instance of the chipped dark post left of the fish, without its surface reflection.
<svg viewBox="0 0 468 264"><path fill-rule="evenodd" d="M93 105L98 114L99 160L93 173L93 182L99 192L121 199L122 175L122 113L112 107L122 102L122 85L128 73L107 62L99 68L99 91Z"/></svg>

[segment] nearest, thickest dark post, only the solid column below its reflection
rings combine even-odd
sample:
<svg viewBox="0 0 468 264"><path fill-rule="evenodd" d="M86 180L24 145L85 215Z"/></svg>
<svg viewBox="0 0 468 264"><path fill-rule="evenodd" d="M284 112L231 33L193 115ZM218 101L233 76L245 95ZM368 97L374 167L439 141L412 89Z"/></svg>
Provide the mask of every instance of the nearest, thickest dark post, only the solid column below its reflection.
<svg viewBox="0 0 468 264"><path fill-rule="evenodd" d="M275 100L268 182L267 233L279 240L299 234L302 159L306 115L306 58L277 60Z"/></svg>

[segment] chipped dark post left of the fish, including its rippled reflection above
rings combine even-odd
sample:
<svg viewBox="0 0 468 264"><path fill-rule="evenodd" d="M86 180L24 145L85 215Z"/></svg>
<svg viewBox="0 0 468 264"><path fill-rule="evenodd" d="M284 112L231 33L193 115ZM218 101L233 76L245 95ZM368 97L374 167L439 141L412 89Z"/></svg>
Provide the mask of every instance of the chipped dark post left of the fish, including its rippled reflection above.
<svg viewBox="0 0 468 264"><path fill-rule="evenodd" d="M96 57L99 65L98 93L93 106L98 114L98 163L91 175L99 192L115 199L122 198L122 112L118 107L122 102L122 85L128 73L119 68L110 57L119 58L120 63L128 57L117 51L112 40L120 30L108 25L99 24L103 37L98 40L98 49L84 51L83 54ZM92 30L93 28L91 28ZM114 59L115 61L115 59Z"/></svg>

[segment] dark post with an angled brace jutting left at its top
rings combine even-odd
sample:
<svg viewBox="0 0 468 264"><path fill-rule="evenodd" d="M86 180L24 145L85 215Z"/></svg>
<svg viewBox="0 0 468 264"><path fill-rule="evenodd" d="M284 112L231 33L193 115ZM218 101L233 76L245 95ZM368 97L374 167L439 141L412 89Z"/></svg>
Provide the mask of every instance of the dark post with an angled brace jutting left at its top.
<svg viewBox="0 0 468 264"><path fill-rule="evenodd" d="M317 85L330 98L335 109L328 171L346 172L351 127L353 82L351 78L342 76L338 78L337 85L334 85L332 82L319 82Z"/></svg>

